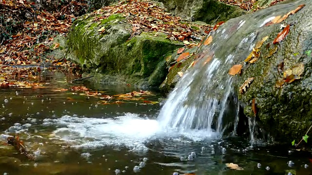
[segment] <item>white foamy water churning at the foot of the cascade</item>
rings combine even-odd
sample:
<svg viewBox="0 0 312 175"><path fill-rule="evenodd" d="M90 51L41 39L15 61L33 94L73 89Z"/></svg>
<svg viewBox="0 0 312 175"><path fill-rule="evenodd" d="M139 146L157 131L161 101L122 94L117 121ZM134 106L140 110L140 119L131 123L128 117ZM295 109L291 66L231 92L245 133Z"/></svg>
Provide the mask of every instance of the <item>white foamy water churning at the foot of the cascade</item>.
<svg viewBox="0 0 312 175"><path fill-rule="evenodd" d="M107 119L62 116L59 119L44 119L43 124L56 126L53 136L68 141L73 148L98 148L125 146L132 151L144 152L149 140L170 137L186 137L193 141L211 138L206 130L164 130L157 120L126 113Z"/></svg>

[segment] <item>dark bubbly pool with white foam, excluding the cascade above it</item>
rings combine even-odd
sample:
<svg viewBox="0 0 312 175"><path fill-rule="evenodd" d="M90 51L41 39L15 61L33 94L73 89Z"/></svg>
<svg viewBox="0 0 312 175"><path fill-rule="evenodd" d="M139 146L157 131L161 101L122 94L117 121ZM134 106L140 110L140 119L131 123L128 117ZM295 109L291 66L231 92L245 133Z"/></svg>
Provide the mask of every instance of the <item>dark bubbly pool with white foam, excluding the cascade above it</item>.
<svg viewBox="0 0 312 175"><path fill-rule="evenodd" d="M159 92L144 97L159 104L104 105L107 99L55 90L86 86L115 95L139 89L69 85L62 73L49 76L47 88L0 89L0 175L312 175L311 150L297 151L291 144L251 147L243 138L163 130L156 120L165 98ZM4 144L14 134L33 159Z"/></svg>

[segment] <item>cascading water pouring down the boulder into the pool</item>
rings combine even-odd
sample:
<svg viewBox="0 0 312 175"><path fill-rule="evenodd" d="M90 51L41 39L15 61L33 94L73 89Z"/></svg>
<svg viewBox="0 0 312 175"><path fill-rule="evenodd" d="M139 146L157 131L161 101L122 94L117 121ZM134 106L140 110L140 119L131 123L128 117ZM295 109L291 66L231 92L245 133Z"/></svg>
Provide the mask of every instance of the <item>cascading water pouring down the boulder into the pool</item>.
<svg viewBox="0 0 312 175"><path fill-rule="evenodd" d="M200 55L196 65L184 73L169 94L158 116L160 125L168 130L204 130L212 136L222 134L225 126L232 123L235 132L239 104L232 98L235 77L228 72L244 61L257 41L268 35L267 22L299 3L302 2L285 4L283 10L272 7L266 13L248 14L244 20L231 19L211 32L212 43L200 46L195 53ZM254 123L254 119L249 123L251 140L254 140Z"/></svg>

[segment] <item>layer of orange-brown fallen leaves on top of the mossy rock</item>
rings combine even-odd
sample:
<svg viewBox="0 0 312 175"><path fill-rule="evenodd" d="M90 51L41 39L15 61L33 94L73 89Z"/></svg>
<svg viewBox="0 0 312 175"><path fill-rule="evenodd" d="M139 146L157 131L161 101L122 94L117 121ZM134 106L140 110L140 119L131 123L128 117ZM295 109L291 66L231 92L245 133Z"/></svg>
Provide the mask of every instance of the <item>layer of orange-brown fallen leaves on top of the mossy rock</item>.
<svg viewBox="0 0 312 175"><path fill-rule="evenodd" d="M103 7L91 14L100 14L100 17L94 19L94 21L99 21L117 13L122 14L133 26L132 35L129 39L141 32L154 31L167 34L167 38L170 40L193 41L195 39L201 40L202 36L208 34L211 30L210 25L190 24L179 17L172 16L155 3L148 1L120 1L117 5ZM194 27L192 28L192 26Z"/></svg>

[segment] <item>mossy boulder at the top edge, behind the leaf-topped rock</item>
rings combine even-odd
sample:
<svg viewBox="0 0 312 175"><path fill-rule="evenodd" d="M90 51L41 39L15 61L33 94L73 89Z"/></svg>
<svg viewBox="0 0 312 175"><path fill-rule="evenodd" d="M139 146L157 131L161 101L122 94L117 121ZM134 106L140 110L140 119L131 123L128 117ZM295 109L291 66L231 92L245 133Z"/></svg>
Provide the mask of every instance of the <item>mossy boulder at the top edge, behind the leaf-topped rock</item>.
<svg viewBox="0 0 312 175"><path fill-rule="evenodd" d="M246 13L238 6L229 5L217 0L157 0L174 15L187 20L198 20L211 24L227 21Z"/></svg>

